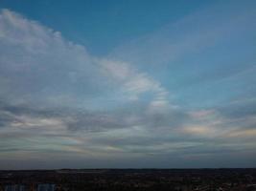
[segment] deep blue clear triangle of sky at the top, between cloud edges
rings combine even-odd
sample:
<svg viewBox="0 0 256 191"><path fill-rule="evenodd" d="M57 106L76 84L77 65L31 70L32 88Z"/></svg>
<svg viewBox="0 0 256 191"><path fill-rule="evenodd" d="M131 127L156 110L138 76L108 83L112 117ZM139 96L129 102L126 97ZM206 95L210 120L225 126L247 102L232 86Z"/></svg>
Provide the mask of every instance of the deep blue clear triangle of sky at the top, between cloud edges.
<svg viewBox="0 0 256 191"><path fill-rule="evenodd" d="M18 11L61 32L94 54L109 53L115 46L153 32L196 11L211 1L1 1L1 7ZM171 13L172 12L172 13ZM107 44L107 46L106 46Z"/></svg>

